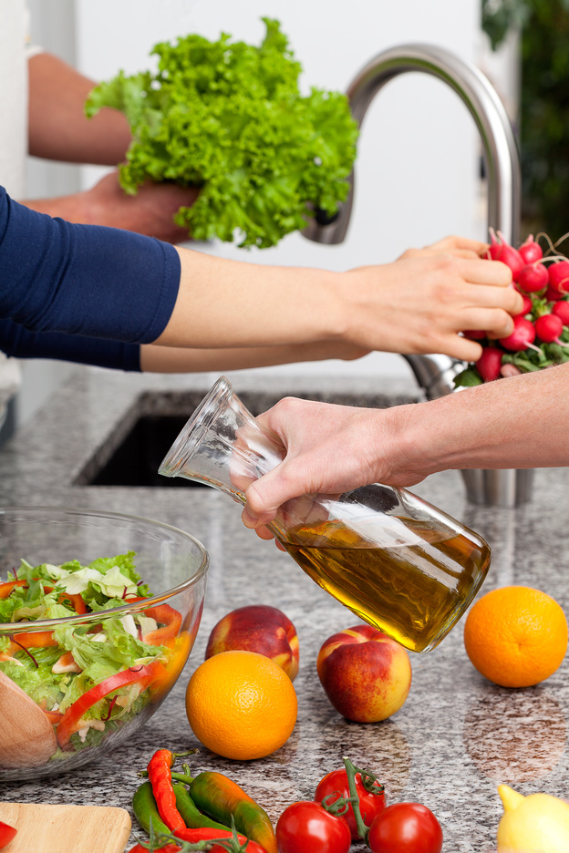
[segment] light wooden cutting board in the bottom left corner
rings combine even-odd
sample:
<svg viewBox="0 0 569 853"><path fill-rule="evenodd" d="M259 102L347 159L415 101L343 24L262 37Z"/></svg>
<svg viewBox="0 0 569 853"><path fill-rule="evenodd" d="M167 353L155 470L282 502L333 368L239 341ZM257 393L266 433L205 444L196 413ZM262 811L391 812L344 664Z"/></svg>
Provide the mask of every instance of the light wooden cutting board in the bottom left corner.
<svg viewBox="0 0 569 853"><path fill-rule="evenodd" d="M3 853L124 853L129 812L107 806L0 803L0 820L17 835Z"/></svg>

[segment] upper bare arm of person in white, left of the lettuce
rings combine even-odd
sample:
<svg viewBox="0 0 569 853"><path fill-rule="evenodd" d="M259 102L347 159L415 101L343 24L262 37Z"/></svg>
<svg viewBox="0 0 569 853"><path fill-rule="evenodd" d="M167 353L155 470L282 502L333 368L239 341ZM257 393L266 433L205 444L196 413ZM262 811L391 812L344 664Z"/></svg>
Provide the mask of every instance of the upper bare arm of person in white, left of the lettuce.
<svg viewBox="0 0 569 853"><path fill-rule="evenodd" d="M84 114L92 80L48 53L30 59L28 74L30 154L109 166L124 159L130 129L123 114L109 108L92 119Z"/></svg>

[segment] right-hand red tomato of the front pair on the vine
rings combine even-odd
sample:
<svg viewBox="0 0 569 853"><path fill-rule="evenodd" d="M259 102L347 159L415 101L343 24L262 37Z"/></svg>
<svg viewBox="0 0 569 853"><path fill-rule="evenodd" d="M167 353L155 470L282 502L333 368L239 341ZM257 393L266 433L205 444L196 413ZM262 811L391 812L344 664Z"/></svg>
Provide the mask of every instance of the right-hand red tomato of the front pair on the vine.
<svg viewBox="0 0 569 853"><path fill-rule="evenodd" d="M442 829L420 803L394 803L376 817L367 836L372 853L440 853Z"/></svg>

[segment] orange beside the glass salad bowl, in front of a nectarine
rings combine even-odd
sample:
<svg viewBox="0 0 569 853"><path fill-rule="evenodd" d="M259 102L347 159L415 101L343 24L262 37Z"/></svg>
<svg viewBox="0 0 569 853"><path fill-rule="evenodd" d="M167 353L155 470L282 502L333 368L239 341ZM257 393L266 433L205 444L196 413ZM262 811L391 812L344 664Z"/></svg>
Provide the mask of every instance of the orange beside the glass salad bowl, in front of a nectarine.
<svg viewBox="0 0 569 853"><path fill-rule="evenodd" d="M220 652L191 676L186 713L193 734L217 755L263 758L284 745L295 728L295 688L264 654Z"/></svg>

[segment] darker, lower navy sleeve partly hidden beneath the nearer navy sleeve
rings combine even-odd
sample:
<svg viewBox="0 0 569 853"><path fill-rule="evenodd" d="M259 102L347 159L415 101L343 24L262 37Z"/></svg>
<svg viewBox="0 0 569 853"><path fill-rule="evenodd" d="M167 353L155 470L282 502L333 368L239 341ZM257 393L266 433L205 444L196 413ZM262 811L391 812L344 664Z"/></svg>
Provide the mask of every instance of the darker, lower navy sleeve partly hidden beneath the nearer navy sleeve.
<svg viewBox="0 0 569 853"><path fill-rule="evenodd" d="M78 365L140 371L140 345L64 332L30 332L0 318L0 351L16 358L50 358Z"/></svg>

